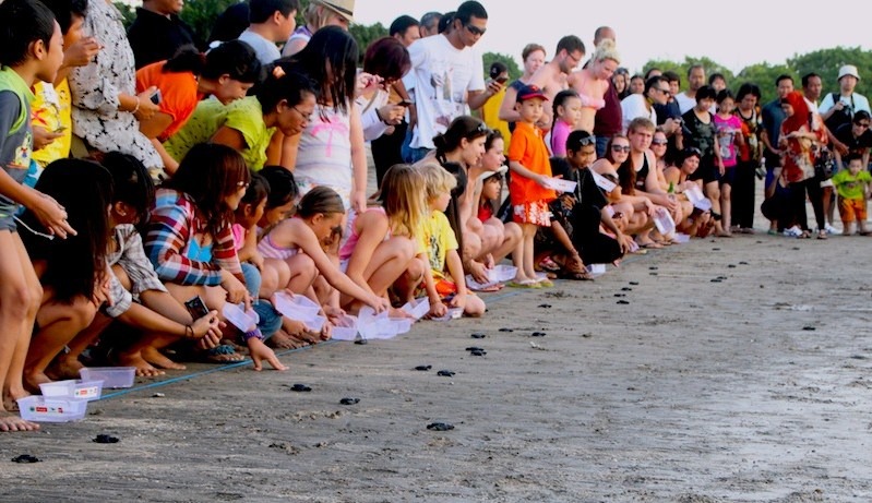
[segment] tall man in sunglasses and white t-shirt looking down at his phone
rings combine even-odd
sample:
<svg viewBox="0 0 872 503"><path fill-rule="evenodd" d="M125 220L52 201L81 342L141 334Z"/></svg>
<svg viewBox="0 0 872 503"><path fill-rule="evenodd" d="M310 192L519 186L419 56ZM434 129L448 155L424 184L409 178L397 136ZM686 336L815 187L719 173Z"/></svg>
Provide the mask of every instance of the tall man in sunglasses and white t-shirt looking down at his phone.
<svg viewBox="0 0 872 503"><path fill-rule="evenodd" d="M417 124L411 136L411 161L434 148L433 136L444 133L451 121L480 108L502 89L502 84L485 85L485 63L473 46L485 35L488 12L470 0L457 8L445 33L416 40L408 47L411 71L403 79L415 88Z"/></svg>

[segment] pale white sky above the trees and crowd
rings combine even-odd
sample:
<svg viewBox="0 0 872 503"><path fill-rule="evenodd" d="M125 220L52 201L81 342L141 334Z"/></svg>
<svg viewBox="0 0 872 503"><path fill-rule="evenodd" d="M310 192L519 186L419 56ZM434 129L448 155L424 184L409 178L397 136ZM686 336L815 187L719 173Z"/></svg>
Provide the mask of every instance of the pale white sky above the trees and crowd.
<svg viewBox="0 0 872 503"><path fill-rule="evenodd" d="M527 43L545 46L550 59L564 35L581 37L589 55L594 31L601 25L614 28L621 65L631 72L641 70L650 59L683 61L685 56L707 56L737 73L749 64L784 63L797 53L816 49L872 47L872 8L859 0L840 1L838 8L835 3L816 2L813 9L808 7L812 3L790 2L792 5L787 7L788 2L771 0L479 1L488 10L488 32L477 47L482 53L513 56L518 67L521 50ZM381 22L387 27L402 14L420 19L425 12L447 12L461 3L462 0L357 0L355 22ZM604 8L593 7L599 4ZM755 21L742 25L742 16ZM667 25L671 27L666 28ZM872 69L860 69L860 73L865 76L862 74L872 73Z"/></svg>

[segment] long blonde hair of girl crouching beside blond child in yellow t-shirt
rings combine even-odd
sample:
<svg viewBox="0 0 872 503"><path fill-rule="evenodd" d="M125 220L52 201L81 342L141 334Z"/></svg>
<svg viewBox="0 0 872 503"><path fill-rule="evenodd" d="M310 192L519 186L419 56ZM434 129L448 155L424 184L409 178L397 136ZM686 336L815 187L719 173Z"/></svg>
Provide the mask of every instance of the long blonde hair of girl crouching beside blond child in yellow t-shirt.
<svg viewBox="0 0 872 503"><path fill-rule="evenodd" d="M380 188L381 203L391 232L394 236L415 238L429 213L425 201L423 176L407 164L396 164L384 173Z"/></svg>

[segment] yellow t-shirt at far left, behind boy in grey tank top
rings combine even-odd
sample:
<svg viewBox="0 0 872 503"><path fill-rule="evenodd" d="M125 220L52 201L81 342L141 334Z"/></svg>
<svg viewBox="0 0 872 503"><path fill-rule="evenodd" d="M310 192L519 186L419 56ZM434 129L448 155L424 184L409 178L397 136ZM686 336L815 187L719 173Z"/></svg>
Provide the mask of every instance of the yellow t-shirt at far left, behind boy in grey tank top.
<svg viewBox="0 0 872 503"><path fill-rule="evenodd" d="M70 144L73 137L72 98L67 79L57 87L45 82L34 86L36 96L31 103L31 124L58 131L62 135L53 142L33 153L33 158L45 168L49 163L70 157ZM63 128L63 131L59 129Z"/></svg>

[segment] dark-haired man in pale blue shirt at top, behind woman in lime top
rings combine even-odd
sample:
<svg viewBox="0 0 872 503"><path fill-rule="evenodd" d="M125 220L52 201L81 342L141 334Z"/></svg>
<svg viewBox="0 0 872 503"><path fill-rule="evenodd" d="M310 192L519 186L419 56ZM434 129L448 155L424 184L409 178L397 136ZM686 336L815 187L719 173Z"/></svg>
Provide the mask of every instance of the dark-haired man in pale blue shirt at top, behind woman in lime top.
<svg viewBox="0 0 872 503"><path fill-rule="evenodd" d="M239 39L250 45L261 64L270 64L282 57L276 43L288 39L297 26L295 16L299 0L250 0L249 27Z"/></svg>

